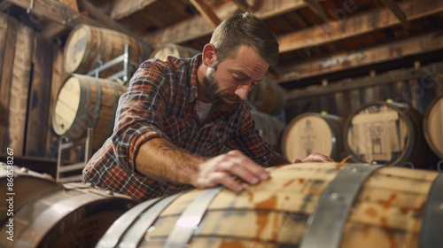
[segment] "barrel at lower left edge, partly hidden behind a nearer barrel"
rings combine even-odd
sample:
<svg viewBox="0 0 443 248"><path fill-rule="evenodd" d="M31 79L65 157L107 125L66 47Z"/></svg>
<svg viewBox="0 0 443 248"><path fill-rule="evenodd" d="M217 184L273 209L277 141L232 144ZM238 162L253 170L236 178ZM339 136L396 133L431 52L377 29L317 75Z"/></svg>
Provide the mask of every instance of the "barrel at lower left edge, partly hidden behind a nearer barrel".
<svg viewBox="0 0 443 248"><path fill-rule="evenodd" d="M5 221L13 217L23 205L41 198L44 194L61 189L63 186L49 174L39 174L24 167L0 163L0 192L4 198L13 199L11 202L2 201L0 225L3 227Z"/></svg>

